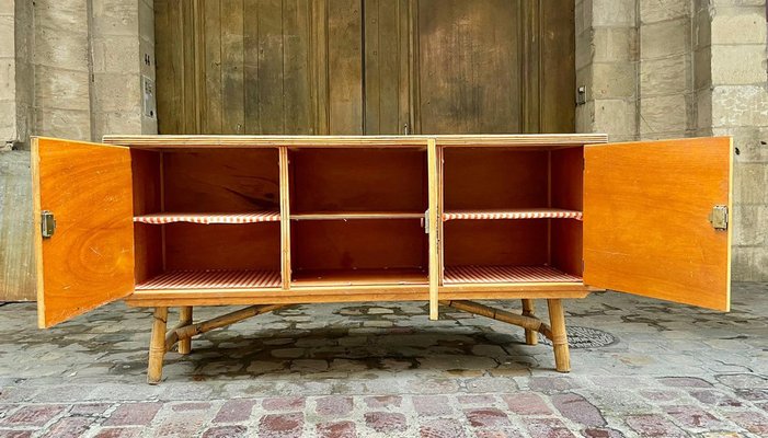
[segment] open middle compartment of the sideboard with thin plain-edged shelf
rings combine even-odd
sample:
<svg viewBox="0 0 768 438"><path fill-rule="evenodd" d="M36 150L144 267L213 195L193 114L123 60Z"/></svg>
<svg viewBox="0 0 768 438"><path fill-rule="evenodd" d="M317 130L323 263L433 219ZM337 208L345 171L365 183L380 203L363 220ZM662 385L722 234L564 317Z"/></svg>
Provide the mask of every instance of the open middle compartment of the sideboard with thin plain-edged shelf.
<svg viewBox="0 0 768 438"><path fill-rule="evenodd" d="M424 284L424 148L289 151L291 285Z"/></svg>

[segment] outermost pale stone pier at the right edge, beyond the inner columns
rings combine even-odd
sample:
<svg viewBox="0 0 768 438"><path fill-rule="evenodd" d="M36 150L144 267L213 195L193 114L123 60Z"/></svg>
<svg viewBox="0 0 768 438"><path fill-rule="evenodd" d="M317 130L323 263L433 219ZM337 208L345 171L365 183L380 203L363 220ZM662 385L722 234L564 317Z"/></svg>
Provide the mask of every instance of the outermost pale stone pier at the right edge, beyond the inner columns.
<svg viewBox="0 0 768 438"><path fill-rule="evenodd" d="M768 279L768 88L765 0L710 0L711 130L738 148L733 276Z"/></svg>

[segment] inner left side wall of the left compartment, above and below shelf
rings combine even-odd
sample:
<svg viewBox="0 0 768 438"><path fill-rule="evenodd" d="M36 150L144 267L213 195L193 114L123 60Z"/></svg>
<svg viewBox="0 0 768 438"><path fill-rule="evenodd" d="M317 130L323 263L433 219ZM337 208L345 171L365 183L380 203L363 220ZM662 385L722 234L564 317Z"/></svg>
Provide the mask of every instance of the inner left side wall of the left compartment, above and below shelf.
<svg viewBox="0 0 768 438"><path fill-rule="evenodd" d="M130 150L134 216L162 211L160 152ZM141 283L162 273L162 230L134 224L135 278Z"/></svg>

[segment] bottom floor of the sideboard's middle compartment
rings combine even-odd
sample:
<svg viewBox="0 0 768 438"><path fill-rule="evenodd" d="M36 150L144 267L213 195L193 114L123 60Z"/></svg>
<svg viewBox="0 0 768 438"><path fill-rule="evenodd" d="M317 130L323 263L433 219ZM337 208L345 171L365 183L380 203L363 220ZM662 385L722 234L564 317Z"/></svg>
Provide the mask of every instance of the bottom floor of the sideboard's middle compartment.
<svg viewBox="0 0 768 438"><path fill-rule="evenodd" d="M427 273L417 268L311 269L294 272L293 286L427 285Z"/></svg>

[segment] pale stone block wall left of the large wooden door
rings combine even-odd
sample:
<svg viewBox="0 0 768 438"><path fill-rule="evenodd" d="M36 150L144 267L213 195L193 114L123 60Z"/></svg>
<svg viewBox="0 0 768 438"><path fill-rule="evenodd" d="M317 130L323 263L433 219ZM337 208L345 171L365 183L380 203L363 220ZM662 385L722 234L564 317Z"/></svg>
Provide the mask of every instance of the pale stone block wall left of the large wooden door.
<svg viewBox="0 0 768 438"><path fill-rule="evenodd" d="M35 296L30 136L157 132L153 34L151 0L0 1L0 300Z"/></svg>

